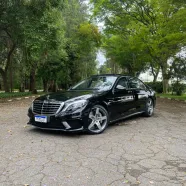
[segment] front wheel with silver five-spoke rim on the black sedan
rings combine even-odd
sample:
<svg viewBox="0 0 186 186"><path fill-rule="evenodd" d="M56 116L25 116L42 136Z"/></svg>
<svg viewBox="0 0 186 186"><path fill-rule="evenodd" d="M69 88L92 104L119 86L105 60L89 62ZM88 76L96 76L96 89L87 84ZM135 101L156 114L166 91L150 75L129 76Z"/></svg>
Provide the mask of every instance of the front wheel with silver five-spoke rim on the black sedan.
<svg viewBox="0 0 186 186"><path fill-rule="evenodd" d="M108 112L101 105L93 106L88 117L87 132L89 134L100 134L107 128Z"/></svg>

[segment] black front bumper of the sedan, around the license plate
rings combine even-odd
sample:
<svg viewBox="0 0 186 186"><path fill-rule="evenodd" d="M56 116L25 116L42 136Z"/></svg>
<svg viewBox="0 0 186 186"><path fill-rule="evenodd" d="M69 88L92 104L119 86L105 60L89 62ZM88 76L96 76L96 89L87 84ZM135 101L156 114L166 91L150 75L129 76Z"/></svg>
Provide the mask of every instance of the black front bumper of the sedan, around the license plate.
<svg viewBox="0 0 186 186"><path fill-rule="evenodd" d="M39 129L44 130L60 130L60 131L84 131L87 128L88 116L82 113L64 116L47 116L48 122L41 123L35 121L35 115L31 109L28 111L28 117L30 118L28 124ZM38 115L37 115L38 116Z"/></svg>

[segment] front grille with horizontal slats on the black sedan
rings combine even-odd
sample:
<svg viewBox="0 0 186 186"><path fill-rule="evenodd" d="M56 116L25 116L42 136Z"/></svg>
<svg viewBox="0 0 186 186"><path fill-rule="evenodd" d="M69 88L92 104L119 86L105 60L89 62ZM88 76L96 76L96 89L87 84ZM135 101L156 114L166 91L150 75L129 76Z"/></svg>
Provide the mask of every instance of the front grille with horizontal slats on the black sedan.
<svg viewBox="0 0 186 186"><path fill-rule="evenodd" d="M33 102L33 113L35 114L46 114L54 115L62 108L63 102L51 102L51 101L34 101Z"/></svg>

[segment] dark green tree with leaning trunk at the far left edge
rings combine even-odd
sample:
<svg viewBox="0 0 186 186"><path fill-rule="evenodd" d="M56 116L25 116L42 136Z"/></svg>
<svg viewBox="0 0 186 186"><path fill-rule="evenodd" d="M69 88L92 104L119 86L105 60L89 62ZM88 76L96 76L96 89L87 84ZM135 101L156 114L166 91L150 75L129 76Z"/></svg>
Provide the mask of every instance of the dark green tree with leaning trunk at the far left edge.
<svg viewBox="0 0 186 186"><path fill-rule="evenodd" d="M0 74L9 92L8 72L20 36L21 1L0 1ZM12 71L12 70L11 70Z"/></svg>

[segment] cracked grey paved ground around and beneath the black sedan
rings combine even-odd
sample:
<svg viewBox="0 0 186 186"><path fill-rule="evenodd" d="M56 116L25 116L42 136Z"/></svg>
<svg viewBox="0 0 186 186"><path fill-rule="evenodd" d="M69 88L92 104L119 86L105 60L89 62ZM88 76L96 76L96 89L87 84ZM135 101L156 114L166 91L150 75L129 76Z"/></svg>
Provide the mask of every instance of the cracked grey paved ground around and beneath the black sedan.
<svg viewBox="0 0 186 186"><path fill-rule="evenodd" d="M26 126L30 101L0 103L0 186L186 186L185 103L86 135Z"/></svg>

